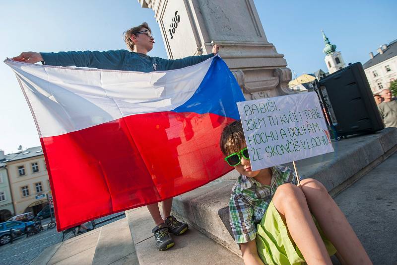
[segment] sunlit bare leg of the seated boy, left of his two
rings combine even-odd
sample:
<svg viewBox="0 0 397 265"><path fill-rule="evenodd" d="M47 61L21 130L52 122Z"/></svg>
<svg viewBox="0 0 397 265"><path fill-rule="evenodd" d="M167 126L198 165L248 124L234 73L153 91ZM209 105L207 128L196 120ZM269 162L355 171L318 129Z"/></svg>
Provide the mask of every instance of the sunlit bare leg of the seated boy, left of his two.
<svg viewBox="0 0 397 265"><path fill-rule="evenodd" d="M288 231L306 263L331 265L301 188L289 183L280 185L273 196L273 203L282 217L285 217Z"/></svg>

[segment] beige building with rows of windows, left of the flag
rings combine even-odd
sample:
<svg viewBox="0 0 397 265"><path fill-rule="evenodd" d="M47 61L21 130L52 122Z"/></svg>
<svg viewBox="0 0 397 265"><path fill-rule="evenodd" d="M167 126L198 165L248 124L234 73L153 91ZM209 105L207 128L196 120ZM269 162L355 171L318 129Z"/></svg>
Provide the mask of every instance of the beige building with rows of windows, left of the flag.
<svg viewBox="0 0 397 265"><path fill-rule="evenodd" d="M50 191L43 150L28 148L7 161L15 214L33 212L36 215L47 205L46 194Z"/></svg>

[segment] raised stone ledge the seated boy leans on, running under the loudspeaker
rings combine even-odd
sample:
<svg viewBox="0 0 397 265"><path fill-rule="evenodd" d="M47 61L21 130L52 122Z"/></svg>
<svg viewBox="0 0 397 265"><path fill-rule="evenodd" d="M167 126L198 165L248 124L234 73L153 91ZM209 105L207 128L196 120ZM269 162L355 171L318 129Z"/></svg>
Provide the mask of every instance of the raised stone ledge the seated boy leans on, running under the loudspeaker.
<svg viewBox="0 0 397 265"><path fill-rule="evenodd" d="M296 165L302 178L320 180L330 194L335 195L396 152L397 128L349 137L332 144L333 153L300 160ZM174 215L186 218L200 232L240 255L232 237L228 209L236 177L231 173L179 195L174 198L172 209Z"/></svg>

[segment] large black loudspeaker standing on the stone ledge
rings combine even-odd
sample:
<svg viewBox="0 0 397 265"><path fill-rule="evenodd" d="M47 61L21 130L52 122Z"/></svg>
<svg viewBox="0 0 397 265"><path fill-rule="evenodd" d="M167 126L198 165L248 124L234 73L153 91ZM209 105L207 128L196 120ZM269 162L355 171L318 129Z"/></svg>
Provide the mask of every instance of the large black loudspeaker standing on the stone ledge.
<svg viewBox="0 0 397 265"><path fill-rule="evenodd" d="M339 136L385 128L361 63L348 65L315 83L328 120Z"/></svg>

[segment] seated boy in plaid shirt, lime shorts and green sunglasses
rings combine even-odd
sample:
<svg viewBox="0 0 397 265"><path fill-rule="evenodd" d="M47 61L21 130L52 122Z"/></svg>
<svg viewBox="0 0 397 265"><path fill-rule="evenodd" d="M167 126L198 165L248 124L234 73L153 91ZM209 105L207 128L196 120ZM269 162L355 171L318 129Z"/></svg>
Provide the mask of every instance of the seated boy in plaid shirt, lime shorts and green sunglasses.
<svg viewBox="0 0 397 265"><path fill-rule="evenodd" d="M252 171L240 121L224 128L220 147L240 173L229 210L246 265L331 265L336 250L346 264L372 264L323 184L307 178L297 186L294 172L282 166Z"/></svg>

